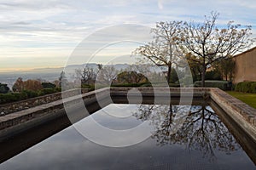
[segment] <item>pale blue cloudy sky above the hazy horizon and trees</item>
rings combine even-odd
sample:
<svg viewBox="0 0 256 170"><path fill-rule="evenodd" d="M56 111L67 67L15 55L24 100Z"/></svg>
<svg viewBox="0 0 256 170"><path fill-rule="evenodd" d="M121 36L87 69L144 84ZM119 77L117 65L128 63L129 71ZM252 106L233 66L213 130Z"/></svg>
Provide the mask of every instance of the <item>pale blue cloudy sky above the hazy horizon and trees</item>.
<svg viewBox="0 0 256 170"><path fill-rule="evenodd" d="M255 0L0 0L0 72L109 63L147 42L155 22L200 22L211 11L220 14L218 25L250 25L256 37ZM84 41L97 57L71 62Z"/></svg>

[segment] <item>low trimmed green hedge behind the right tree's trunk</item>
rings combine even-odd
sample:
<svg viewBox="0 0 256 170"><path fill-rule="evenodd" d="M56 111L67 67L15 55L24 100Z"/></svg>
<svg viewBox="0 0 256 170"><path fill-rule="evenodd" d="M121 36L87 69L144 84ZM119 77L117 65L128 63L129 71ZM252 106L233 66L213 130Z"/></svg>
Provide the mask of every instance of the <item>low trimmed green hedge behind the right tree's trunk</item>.
<svg viewBox="0 0 256 170"><path fill-rule="evenodd" d="M201 81L195 81L194 87L201 88ZM207 80L207 81L205 81L205 87L206 88L220 88L222 90L231 90L232 83L228 82L228 81Z"/></svg>

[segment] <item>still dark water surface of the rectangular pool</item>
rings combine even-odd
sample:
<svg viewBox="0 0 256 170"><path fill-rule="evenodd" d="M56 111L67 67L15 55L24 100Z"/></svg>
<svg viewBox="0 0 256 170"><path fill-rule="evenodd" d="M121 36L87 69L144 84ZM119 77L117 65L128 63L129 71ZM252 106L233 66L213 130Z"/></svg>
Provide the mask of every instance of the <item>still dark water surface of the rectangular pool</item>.
<svg viewBox="0 0 256 170"><path fill-rule="evenodd" d="M0 169L255 169L208 105L111 104L75 125L4 161Z"/></svg>

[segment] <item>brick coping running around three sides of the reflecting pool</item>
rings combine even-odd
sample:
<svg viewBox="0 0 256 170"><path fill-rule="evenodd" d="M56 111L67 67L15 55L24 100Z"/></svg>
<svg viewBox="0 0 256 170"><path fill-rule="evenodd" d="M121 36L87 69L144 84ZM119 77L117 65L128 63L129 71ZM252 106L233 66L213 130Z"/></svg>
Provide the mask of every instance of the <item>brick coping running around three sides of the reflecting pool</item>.
<svg viewBox="0 0 256 170"><path fill-rule="evenodd" d="M100 98L108 98L109 95L121 95L125 97L125 94L132 88L101 88L96 91L91 91L86 94L79 94L59 99L54 102L38 105L33 108L29 108L23 111L17 111L9 115L0 116L0 137L1 131L6 131L9 127L19 126L28 121L33 121L40 116L45 116L55 113L58 110L64 108L63 101L66 105L76 105L79 101L84 101L84 104L92 104ZM244 104L240 100L226 94L224 91L218 88L136 88L143 95L154 94L166 96L166 94L192 94L193 96L210 96L227 114L235 121L242 129L256 141L256 109ZM168 91L166 91L168 90ZM131 91L132 92L132 91ZM64 94L65 95L65 94ZM63 97L63 95L62 95ZM96 98L97 97L97 98ZM83 99L83 100L81 100ZM63 115L66 113L64 112ZM23 126L24 127L24 126ZM9 132L11 133L11 131Z"/></svg>

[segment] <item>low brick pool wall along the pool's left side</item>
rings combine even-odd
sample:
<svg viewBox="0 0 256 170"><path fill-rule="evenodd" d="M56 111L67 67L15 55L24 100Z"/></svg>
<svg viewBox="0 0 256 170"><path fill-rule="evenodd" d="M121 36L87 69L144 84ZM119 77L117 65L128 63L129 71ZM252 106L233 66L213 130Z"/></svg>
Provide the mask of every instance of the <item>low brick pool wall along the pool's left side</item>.
<svg viewBox="0 0 256 170"><path fill-rule="evenodd" d="M109 94L108 88L102 88L85 94L79 94L79 90L80 89L76 89L72 92L62 94L65 96L64 99L59 99L48 104L38 105L26 110L16 111L8 115L0 116L0 141L58 117L67 116L65 109L75 111L75 114L68 116L68 118L71 122L77 122L84 116L89 115L89 113L86 115L83 112L79 112L81 111L80 109L83 109L81 106L84 106L84 104L95 104L97 99L104 99L106 94ZM95 108L91 111L95 111Z"/></svg>

